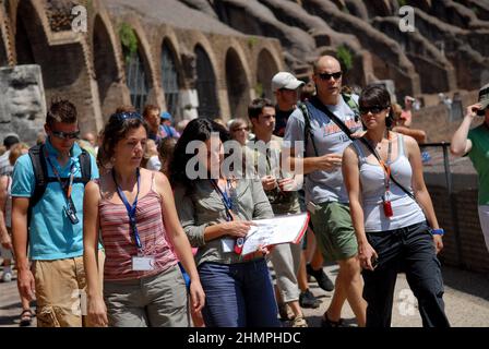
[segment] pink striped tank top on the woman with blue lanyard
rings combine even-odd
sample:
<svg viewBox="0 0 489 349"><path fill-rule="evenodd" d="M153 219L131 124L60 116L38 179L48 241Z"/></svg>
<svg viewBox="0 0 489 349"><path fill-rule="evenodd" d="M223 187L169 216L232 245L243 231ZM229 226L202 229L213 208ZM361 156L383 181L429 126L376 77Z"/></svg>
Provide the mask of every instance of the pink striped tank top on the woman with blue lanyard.
<svg viewBox="0 0 489 349"><path fill-rule="evenodd" d="M132 257L138 248L129 225L129 216L123 203L115 204L102 195L98 204L102 240L106 253L104 279L108 281L130 280L158 274L177 264L177 258L167 240L162 214L162 197L154 190L152 177L150 192L138 200L136 224L143 244L143 255L155 257L153 270L132 270Z"/></svg>

